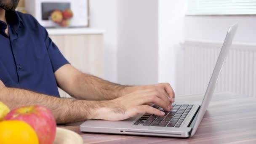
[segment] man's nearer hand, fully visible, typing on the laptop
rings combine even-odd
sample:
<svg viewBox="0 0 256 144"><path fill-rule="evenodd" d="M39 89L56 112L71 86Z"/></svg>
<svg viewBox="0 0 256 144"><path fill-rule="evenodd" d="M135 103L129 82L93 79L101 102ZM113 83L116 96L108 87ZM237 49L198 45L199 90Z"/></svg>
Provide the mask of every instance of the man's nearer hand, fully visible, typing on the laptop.
<svg viewBox="0 0 256 144"><path fill-rule="evenodd" d="M141 90L129 93L125 96L109 101L101 101L101 106L96 109L93 119L99 120L125 120L138 114L165 115L159 109L155 109L150 104L156 104L163 109L170 111L172 105L168 97L156 90Z"/></svg>

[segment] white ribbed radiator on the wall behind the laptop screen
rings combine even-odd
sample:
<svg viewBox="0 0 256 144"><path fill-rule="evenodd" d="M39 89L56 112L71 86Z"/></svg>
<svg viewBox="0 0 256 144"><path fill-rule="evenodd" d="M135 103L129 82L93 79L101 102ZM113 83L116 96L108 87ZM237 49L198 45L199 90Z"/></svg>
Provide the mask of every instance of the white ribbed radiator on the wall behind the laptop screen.
<svg viewBox="0 0 256 144"><path fill-rule="evenodd" d="M205 93L222 43L186 41L184 48L185 94ZM233 44L216 91L256 97L256 45Z"/></svg>

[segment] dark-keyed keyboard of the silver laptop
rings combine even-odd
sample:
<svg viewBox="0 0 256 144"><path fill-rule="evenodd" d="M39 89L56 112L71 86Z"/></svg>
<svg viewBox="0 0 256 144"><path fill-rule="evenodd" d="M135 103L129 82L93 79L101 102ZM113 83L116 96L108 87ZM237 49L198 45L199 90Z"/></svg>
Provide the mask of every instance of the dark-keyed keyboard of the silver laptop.
<svg viewBox="0 0 256 144"><path fill-rule="evenodd" d="M151 114L144 114L137 120L134 125L147 125L147 126L167 126L179 128L184 119L187 117L189 111L192 109L192 104L175 104L171 111L165 111L162 107L157 105L153 106L160 111L165 112L164 116L157 116Z"/></svg>

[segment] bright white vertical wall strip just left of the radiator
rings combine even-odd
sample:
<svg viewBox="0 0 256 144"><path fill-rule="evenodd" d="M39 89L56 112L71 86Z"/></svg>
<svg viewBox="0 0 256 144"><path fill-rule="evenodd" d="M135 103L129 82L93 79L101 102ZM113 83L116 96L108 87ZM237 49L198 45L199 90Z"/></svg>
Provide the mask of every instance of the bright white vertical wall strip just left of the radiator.
<svg viewBox="0 0 256 144"><path fill-rule="evenodd" d="M184 41L186 5L182 0L159 0L159 82L168 82L176 94L182 91L183 55L179 45ZM178 77L181 75L180 77Z"/></svg>

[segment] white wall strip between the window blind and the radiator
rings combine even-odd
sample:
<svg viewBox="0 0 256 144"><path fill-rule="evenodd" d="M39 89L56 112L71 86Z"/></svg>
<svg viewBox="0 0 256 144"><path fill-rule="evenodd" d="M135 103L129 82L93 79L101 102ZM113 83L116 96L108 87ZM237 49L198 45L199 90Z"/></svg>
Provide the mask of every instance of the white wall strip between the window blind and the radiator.
<svg viewBox="0 0 256 144"><path fill-rule="evenodd" d="M256 16L186 16L186 39L224 41L227 29L238 22L234 43L256 43Z"/></svg>

